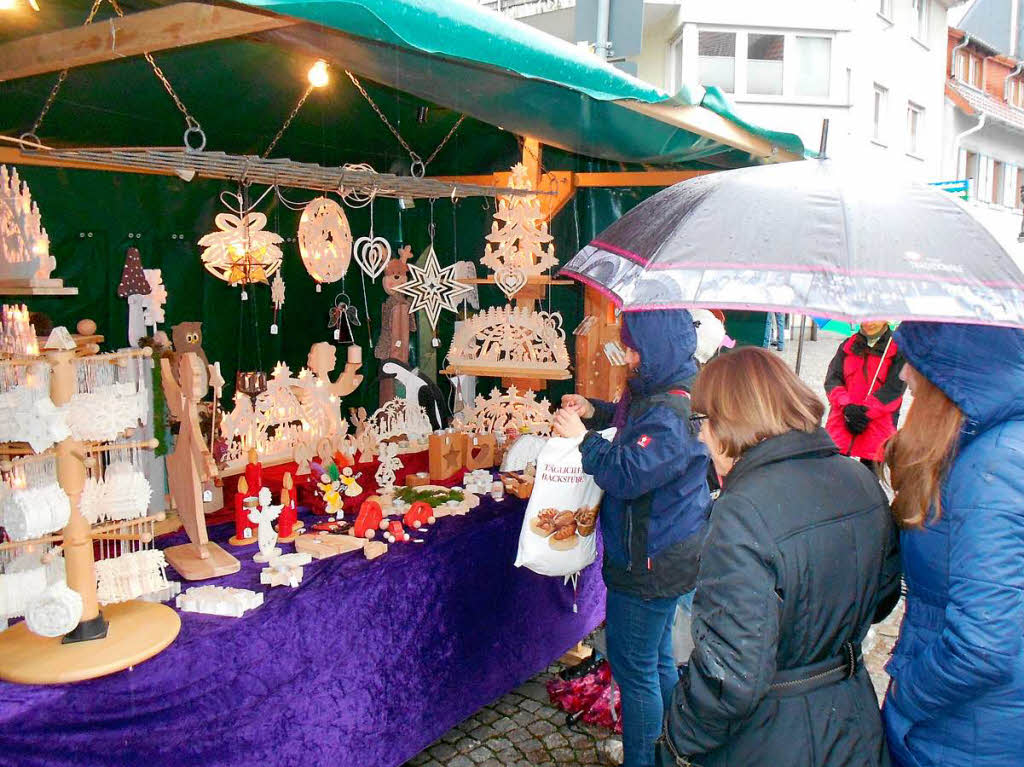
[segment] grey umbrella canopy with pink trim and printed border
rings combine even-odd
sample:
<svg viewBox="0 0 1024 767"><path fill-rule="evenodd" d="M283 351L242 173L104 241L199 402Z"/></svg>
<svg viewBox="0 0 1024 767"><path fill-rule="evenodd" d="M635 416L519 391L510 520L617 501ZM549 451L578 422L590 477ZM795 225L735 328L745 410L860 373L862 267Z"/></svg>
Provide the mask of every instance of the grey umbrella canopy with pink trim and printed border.
<svg viewBox="0 0 1024 767"><path fill-rule="evenodd" d="M935 187L807 161L699 176L644 201L561 273L624 310L787 311L1024 327L1024 273Z"/></svg>

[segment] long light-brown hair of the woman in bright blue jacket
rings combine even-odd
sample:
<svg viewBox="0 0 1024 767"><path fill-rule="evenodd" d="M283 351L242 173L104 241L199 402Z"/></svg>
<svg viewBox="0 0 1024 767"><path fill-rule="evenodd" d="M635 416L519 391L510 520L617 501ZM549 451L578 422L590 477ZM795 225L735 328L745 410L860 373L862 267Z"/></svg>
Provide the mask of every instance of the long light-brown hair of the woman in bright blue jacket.
<svg viewBox="0 0 1024 767"><path fill-rule="evenodd" d="M896 492L893 516L901 527L925 525L942 516L942 480L952 463L964 413L938 386L918 373L906 422L886 444L890 482Z"/></svg>

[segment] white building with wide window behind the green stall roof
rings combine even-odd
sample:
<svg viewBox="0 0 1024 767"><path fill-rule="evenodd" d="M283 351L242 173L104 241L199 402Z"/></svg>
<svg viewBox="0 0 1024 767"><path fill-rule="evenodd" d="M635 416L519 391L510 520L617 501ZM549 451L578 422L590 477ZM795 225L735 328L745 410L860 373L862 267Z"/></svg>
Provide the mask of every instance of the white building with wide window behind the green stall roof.
<svg viewBox="0 0 1024 767"><path fill-rule="evenodd" d="M496 7L497 0L486 4ZM509 2L515 5L509 6ZM946 13L958 0L644 2L642 80L675 93L716 85L741 115L828 155L942 177ZM504 12L571 40L570 0Z"/></svg>

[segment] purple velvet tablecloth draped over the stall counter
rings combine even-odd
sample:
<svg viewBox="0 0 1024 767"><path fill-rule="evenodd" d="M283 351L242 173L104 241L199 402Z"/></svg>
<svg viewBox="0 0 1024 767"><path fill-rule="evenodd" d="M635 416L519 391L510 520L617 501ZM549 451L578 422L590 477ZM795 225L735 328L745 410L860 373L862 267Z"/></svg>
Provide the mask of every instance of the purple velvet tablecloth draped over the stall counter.
<svg viewBox="0 0 1024 767"><path fill-rule="evenodd" d="M523 508L484 499L426 544L314 560L242 619L181 613L174 643L133 670L0 683L0 765L399 765L603 619L599 564L577 613L561 579L512 566ZM266 591L256 547L232 551L242 571L212 583Z"/></svg>

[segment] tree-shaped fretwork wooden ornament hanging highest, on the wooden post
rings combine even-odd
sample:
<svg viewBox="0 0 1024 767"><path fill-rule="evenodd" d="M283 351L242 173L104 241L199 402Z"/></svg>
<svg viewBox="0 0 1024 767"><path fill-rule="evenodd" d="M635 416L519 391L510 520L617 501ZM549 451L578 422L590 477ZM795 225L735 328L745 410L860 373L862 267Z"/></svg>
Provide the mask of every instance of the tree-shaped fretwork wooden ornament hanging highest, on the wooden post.
<svg viewBox="0 0 1024 767"><path fill-rule="evenodd" d="M529 172L522 163L512 167L512 188L530 189ZM529 278L540 276L558 264L554 238L536 196L500 197L488 245L480 259L494 269L494 281L508 298L522 290Z"/></svg>

